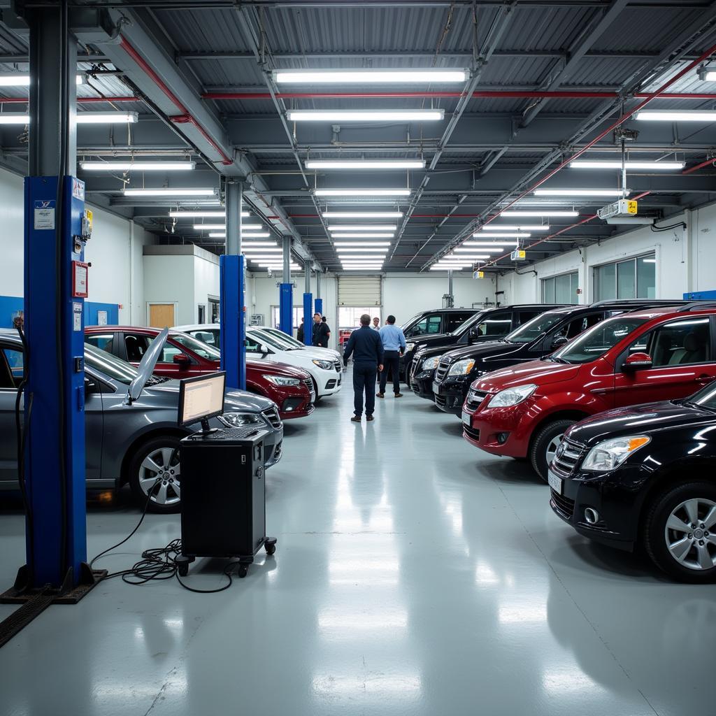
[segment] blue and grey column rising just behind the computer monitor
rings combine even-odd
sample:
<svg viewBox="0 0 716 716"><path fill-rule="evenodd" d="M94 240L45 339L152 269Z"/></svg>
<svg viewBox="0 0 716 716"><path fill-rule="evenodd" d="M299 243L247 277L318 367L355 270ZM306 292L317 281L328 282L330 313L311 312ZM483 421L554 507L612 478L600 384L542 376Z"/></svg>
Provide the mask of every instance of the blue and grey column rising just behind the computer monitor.
<svg viewBox="0 0 716 716"><path fill-rule="evenodd" d="M221 369L226 385L246 390L246 266L241 256L243 182L226 180L226 254L219 258Z"/></svg>

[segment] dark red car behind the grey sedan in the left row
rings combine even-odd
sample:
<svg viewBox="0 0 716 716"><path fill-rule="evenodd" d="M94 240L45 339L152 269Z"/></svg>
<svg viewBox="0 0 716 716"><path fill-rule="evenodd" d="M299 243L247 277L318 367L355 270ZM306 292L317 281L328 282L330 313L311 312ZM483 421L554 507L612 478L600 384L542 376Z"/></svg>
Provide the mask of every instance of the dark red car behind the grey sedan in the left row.
<svg viewBox="0 0 716 716"><path fill-rule="evenodd" d="M158 328L133 326L89 326L84 336L93 346L133 365L139 364ZM185 333L170 331L155 374L166 378L189 378L219 369L221 354ZM314 411L316 395L311 376L305 371L268 361L246 361L246 390L273 400L281 420L306 417Z"/></svg>

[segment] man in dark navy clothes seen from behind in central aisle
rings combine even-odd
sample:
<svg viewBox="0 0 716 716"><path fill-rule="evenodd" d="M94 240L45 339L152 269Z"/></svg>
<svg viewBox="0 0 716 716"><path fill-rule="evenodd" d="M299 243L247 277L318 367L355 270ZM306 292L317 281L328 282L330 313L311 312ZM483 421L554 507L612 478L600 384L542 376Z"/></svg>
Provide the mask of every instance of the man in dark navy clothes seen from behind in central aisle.
<svg viewBox="0 0 716 716"><path fill-rule="evenodd" d="M352 422L360 422L363 415L365 393L365 418L373 420L375 410L376 371L383 369L383 345L380 335L370 327L370 316L360 317L360 328L352 332L343 352L343 364L353 356L353 412Z"/></svg>

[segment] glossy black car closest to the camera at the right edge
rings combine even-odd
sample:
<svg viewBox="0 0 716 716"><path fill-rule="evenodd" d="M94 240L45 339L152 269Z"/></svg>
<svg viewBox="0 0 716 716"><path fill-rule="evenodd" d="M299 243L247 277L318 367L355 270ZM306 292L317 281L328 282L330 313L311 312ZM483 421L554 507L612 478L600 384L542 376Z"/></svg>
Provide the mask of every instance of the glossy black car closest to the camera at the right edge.
<svg viewBox="0 0 716 716"><path fill-rule="evenodd" d="M691 397L599 413L567 430L550 505L585 537L679 581L716 581L716 383Z"/></svg>

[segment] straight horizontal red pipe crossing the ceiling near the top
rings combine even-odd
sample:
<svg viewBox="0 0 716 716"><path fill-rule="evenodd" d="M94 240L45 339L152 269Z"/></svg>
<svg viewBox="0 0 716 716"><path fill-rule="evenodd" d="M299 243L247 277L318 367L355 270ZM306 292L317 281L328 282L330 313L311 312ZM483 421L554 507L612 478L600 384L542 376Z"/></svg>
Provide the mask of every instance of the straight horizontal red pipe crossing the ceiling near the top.
<svg viewBox="0 0 716 716"><path fill-rule="evenodd" d="M390 97L422 97L434 99L450 99L463 97L464 92L278 92L279 100L351 100L351 99L385 99ZM647 92L634 95L637 100L650 97ZM270 100L269 92L204 92L203 100ZM614 100L619 97L616 92L580 92L579 90L557 90L540 92L519 89L478 90L473 97L483 99L574 99L574 100ZM674 92L659 95L660 100L716 100L715 92Z"/></svg>

